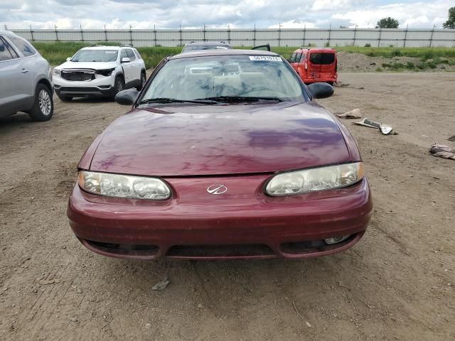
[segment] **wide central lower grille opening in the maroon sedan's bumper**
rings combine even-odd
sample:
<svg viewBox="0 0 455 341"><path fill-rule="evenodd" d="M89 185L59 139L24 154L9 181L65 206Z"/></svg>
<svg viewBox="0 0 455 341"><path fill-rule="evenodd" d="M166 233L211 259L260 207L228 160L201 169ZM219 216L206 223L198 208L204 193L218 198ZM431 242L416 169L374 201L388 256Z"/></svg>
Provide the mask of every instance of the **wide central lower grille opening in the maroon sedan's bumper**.
<svg viewBox="0 0 455 341"><path fill-rule="evenodd" d="M181 257L238 257L272 256L274 251L264 244L240 245L174 245L166 256Z"/></svg>

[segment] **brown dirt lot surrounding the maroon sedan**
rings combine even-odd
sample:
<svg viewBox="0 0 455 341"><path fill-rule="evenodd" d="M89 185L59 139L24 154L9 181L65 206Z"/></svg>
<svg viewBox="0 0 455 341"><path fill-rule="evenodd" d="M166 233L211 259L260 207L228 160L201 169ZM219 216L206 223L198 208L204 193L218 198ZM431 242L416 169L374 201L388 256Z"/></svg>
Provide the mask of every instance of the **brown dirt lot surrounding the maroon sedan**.
<svg viewBox="0 0 455 341"><path fill-rule="evenodd" d="M55 99L51 121L0 120L0 340L455 340L455 77L341 73L343 121L375 202L363 239L301 261L120 261L87 251L66 205L85 148L127 110ZM164 291L151 287L168 276Z"/></svg>

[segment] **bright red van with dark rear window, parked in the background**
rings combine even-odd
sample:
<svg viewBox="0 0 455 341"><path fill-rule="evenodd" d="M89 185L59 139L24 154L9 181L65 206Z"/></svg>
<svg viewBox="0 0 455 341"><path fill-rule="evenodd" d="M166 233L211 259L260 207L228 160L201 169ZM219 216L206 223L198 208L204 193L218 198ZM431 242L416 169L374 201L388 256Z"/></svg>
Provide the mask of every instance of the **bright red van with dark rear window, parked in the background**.
<svg viewBox="0 0 455 341"><path fill-rule="evenodd" d="M336 82L337 60L334 48L299 48L288 61L306 84L327 82L333 85Z"/></svg>

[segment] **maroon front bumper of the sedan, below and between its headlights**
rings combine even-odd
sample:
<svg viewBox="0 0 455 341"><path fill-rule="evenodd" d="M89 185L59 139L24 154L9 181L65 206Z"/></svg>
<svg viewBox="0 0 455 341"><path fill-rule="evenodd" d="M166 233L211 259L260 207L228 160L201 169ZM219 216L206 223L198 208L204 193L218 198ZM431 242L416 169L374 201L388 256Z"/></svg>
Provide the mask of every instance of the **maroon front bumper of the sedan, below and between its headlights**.
<svg viewBox="0 0 455 341"><path fill-rule="evenodd" d="M352 247L368 227L373 203L365 179L349 188L267 197L261 190L268 178L167 179L174 195L162 202L91 195L75 185L68 217L85 247L127 259L323 256ZM229 194L203 193L214 183ZM322 240L348 234L339 244Z"/></svg>

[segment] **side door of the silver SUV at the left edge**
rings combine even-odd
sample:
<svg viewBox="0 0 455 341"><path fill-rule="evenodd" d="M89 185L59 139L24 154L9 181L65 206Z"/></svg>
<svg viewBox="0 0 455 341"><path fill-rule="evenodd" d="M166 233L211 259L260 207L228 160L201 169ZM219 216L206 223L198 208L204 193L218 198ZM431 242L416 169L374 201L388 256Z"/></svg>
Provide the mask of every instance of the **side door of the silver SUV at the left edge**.
<svg viewBox="0 0 455 341"><path fill-rule="evenodd" d="M0 36L0 117L28 109L31 79L23 72L20 55ZM33 97L32 97L33 98Z"/></svg>

